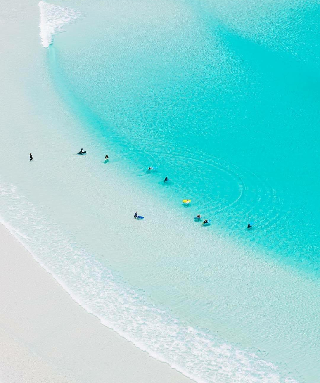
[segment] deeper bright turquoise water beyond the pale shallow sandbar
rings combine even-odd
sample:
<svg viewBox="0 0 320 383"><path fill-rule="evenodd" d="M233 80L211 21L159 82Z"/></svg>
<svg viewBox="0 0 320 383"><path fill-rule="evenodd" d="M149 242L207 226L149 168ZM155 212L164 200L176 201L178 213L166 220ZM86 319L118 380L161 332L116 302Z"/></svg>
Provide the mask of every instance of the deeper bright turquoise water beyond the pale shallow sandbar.
<svg viewBox="0 0 320 383"><path fill-rule="evenodd" d="M317 274L319 7L231 4L98 2L51 70L141 183Z"/></svg>

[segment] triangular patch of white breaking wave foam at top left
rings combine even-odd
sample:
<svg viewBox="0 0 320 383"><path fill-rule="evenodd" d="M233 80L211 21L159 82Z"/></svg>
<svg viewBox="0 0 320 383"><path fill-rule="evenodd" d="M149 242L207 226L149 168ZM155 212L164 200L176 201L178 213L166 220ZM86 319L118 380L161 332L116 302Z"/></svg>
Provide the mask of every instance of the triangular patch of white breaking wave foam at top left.
<svg viewBox="0 0 320 383"><path fill-rule="evenodd" d="M80 12L44 1L39 2L38 5L40 8L39 35L42 45L48 48L53 43L53 35L64 31L64 25L76 20L80 16Z"/></svg>

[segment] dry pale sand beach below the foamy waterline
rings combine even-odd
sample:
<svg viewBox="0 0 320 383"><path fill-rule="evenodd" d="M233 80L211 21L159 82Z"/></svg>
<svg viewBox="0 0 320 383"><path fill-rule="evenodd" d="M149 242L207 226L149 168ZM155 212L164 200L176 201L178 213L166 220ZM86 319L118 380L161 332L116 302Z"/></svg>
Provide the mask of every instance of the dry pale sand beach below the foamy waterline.
<svg viewBox="0 0 320 383"><path fill-rule="evenodd" d="M3 224L0 236L3 383L192 382L85 311Z"/></svg>

